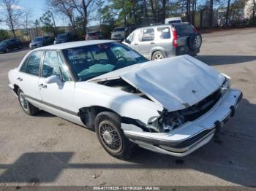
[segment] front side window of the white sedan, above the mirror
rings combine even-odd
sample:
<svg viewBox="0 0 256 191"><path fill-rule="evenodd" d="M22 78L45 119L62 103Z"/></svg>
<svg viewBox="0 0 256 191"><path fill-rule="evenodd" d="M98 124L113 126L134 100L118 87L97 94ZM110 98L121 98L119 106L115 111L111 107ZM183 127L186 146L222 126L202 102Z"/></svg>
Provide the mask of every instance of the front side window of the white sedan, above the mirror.
<svg viewBox="0 0 256 191"><path fill-rule="evenodd" d="M42 77L50 77L52 75L60 76L58 56L56 51L46 51L42 64Z"/></svg>

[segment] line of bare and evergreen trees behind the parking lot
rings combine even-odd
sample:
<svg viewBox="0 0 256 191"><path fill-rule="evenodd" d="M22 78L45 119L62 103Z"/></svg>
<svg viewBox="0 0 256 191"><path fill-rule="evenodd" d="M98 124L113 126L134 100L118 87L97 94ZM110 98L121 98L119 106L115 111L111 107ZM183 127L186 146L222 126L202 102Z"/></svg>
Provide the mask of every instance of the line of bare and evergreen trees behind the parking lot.
<svg viewBox="0 0 256 191"><path fill-rule="evenodd" d="M99 23L103 33L115 26L138 27L164 23L166 17L182 17L194 24L196 12L208 10L212 26L214 9L225 10L225 25L237 10L255 22L256 0L45 0L45 13L31 20L33 9L22 9L19 0L0 0L0 23L5 23L15 36L16 28L38 28L56 35L55 18L67 21L74 34L84 36L89 23ZM256 23L256 22L255 22Z"/></svg>

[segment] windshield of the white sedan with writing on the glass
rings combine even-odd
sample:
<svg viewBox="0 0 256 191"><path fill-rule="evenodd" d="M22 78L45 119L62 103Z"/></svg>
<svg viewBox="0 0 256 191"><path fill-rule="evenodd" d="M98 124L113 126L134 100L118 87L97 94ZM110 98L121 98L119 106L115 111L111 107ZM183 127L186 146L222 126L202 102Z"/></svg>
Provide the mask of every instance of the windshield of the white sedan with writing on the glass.
<svg viewBox="0 0 256 191"><path fill-rule="evenodd" d="M62 51L78 81L86 81L110 71L148 61L138 52L118 42Z"/></svg>

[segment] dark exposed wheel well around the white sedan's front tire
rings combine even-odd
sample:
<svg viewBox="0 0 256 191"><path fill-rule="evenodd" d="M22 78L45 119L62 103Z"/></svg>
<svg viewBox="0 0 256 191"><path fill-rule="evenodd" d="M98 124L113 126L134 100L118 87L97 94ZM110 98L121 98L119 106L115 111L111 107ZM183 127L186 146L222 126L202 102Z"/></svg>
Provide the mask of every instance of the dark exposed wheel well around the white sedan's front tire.
<svg viewBox="0 0 256 191"><path fill-rule="evenodd" d="M80 108L78 112L78 116L80 117L80 119L82 120L84 125L86 125L87 128L94 129L95 117L100 112L113 112L117 114L113 110L105 108L103 106L89 106L89 107Z"/></svg>

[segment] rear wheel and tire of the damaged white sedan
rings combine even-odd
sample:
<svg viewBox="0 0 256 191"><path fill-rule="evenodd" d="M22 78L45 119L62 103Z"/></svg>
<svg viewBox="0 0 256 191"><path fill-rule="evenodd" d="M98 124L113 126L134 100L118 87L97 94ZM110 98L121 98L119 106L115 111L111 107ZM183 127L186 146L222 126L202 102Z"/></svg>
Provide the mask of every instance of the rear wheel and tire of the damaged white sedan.
<svg viewBox="0 0 256 191"><path fill-rule="evenodd" d="M20 102L20 106L26 114L34 115L34 114L37 114L37 112L39 112L39 109L36 106L33 106L32 104L29 103L29 101L26 100L25 95L23 91L20 90L20 88L18 89L17 94L18 94L18 100Z"/></svg>

